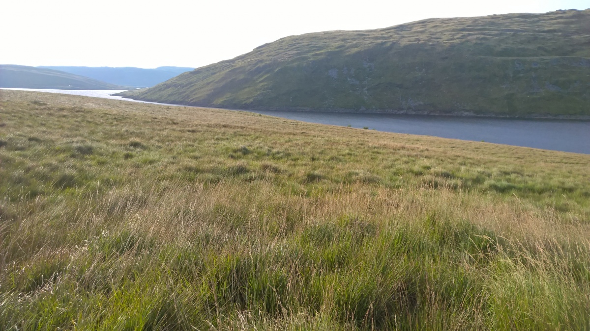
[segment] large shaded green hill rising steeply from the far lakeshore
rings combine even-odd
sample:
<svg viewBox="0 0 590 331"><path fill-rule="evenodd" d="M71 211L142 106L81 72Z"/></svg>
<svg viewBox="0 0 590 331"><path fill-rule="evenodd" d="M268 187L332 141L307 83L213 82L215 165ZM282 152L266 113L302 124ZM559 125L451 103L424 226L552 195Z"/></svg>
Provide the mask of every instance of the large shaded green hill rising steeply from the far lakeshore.
<svg viewBox="0 0 590 331"><path fill-rule="evenodd" d="M590 9L286 37L140 100L242 109L590 117Z"/></svg>

